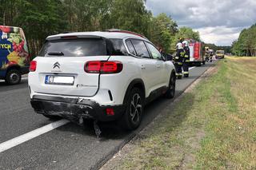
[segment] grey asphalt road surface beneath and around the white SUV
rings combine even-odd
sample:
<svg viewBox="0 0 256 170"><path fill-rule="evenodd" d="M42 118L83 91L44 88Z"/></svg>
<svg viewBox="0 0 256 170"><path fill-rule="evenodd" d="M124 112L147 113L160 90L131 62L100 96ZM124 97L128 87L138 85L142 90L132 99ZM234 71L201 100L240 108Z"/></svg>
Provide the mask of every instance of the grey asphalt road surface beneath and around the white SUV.
<svg viewBox="0 0 256 170"><path fill-rule="evenodd" d="M176 97L212 65L190 69L189 78L177 81ZM172 101L159 98L146 106L142 125L135 132L105 123L99 125L102 137L97 139L93 125L68 123L0 152L0 169L97 169ZM0 144L53 122L30 107L26 79L13 86L0 81L0 108Z"/></svg>

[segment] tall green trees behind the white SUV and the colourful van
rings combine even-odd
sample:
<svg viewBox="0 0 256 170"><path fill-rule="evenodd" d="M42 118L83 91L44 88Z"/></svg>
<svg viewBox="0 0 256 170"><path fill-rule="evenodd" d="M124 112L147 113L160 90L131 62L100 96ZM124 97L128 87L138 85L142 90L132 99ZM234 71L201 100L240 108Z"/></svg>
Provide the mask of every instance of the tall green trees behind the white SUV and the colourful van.
<svg viewBox="0 0 256 170"><path fill-rule="evenodd" d="M166 14L153 16L146 0L1 0L0 25L25 31L32 56L51 34L74 31L130 30L170 53L179 38L200 40L199 33Z"/></svg>

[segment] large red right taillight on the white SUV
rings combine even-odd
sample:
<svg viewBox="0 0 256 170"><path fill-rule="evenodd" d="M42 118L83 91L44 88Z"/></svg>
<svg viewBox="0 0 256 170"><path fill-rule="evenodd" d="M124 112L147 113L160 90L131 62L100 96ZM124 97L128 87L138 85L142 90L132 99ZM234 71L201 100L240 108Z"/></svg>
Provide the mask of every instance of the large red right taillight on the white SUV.
<svg viewBox="0 0 256 170"><path fill-rule="evenodd" d="M122 62L88 61L84 69L86 73L120 73L122 71Z"/></svg>

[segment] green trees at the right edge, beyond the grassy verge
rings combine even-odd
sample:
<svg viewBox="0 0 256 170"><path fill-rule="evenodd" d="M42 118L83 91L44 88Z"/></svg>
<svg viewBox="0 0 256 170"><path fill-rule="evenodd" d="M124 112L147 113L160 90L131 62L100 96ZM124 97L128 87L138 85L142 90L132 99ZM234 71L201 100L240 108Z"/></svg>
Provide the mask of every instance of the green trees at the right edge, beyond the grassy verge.
<svg viewBox="0 0 256 170"><path fill-rule="evenodd" d="M242 30L232 44L232 53L237 56L256 56L256 24Z"/></svg>

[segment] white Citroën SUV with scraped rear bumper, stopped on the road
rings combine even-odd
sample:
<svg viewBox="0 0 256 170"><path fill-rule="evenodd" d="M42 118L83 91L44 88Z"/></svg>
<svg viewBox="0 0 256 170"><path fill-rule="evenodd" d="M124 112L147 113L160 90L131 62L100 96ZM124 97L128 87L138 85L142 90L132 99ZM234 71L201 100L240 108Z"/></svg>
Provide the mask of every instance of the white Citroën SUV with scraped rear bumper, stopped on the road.
<svg viewBox="0 0 256 170"><path fill-rule="evenodd" d="M46 117L120 121L138 128L143 107L174 97L175 69L146 38L124 30L57 34L30 63L31 105Z"/></svg>

